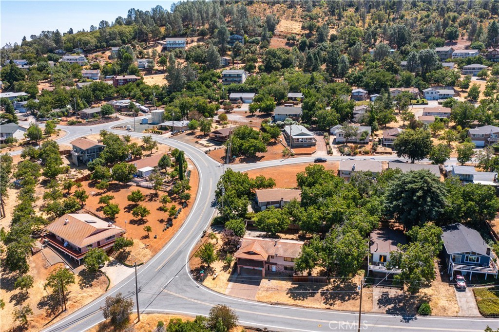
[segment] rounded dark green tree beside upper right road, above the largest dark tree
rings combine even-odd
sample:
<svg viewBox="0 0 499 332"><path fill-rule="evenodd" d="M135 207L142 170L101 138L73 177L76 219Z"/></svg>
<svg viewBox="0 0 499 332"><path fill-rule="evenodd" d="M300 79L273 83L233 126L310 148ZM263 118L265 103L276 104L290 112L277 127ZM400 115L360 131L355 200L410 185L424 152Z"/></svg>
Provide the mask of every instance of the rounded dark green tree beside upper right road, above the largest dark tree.
<svg viewBox="0 0 499 332"><path fill-rule="evenodd" d="M393 144L397 157L408 158L412 164L416 160L425 159L431 152L432 146L431 134L423 128L404 130Z"/></svg>

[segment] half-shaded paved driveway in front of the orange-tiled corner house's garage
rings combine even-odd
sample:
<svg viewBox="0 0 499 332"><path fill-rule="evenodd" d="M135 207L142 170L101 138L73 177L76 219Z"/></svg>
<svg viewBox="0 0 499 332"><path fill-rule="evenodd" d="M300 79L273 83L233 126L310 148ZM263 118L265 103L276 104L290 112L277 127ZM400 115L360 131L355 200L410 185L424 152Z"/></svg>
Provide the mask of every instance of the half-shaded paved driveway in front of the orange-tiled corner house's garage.
<svg viewBox="0 0 499 332"><path fill-rule="evenodd" d="M237 271L229 277L229 285L225 294L238 298L255 300L256 293L260 287L261 270L241 268L241 274Z"/></svg>

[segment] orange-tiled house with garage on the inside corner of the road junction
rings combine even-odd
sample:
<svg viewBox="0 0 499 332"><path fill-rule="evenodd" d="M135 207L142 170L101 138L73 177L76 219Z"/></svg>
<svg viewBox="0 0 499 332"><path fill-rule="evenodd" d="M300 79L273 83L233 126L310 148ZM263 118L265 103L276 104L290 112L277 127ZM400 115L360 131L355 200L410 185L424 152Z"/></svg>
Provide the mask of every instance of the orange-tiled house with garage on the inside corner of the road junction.
<svg viewBox="0 0 499 332"><path fill-rule="evenodd" d="M238 274L241 269L259 270L262 277L265 277L265 271L292 273L303 244L295 240L244 237L234 254Z"/></svg>

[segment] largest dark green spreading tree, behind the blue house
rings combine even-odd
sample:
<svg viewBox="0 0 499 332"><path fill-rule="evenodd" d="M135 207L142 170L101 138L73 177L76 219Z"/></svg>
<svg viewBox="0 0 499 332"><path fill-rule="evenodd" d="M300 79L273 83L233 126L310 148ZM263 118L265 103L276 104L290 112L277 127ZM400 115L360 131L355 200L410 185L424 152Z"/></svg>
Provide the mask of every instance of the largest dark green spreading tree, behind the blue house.
<svg viewBox="0 0 499 332"><path fill-rule="evenodd" d="M386 217L402 222L405 229L437 220L443 212L445 196L444 184L426 169L399 174L386 191Z"/></svg>

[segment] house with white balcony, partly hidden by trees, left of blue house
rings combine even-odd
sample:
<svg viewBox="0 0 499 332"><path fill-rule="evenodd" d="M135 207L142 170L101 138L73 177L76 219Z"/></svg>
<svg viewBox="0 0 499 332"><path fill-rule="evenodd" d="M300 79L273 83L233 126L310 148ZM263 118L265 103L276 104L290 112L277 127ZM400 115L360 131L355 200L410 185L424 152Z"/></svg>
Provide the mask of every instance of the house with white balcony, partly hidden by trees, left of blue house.
<svg viewBox="0 0 499 332"><path fill-rule="evenodd" d="M372 231L369 243L370 255L367 265L367 274L369 275L369 271L385 273L386 275L399 274L401 272L399 269L388 270L386 268L386 263L390 261L390 253L392 251L398 251L398 245L404 245L406 243L406 236L401 230L381 228Z"/></svg>

